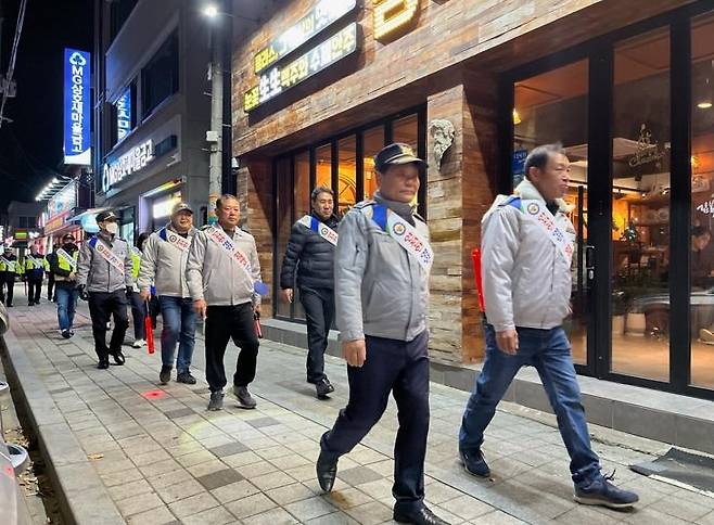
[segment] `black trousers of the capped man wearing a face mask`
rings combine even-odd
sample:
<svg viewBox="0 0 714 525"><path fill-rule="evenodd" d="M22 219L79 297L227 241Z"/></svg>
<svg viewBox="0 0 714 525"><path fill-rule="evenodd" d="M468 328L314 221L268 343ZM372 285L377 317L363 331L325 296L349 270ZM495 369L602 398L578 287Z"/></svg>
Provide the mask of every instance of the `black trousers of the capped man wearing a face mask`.
<svg viewBox="0 0 714 525"><path fill-rule="evenodd" d="M116 292L90 292L89 315L92 319L92 335L94 336L94 351L100 359L106 359L110 354L122 351L124 336L129 328L127 317L127 296L124 289ZM109 348L106 347L106 323L114 316L114 331Z"/></svg>

